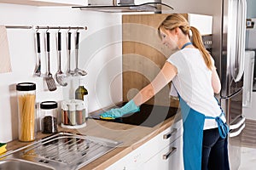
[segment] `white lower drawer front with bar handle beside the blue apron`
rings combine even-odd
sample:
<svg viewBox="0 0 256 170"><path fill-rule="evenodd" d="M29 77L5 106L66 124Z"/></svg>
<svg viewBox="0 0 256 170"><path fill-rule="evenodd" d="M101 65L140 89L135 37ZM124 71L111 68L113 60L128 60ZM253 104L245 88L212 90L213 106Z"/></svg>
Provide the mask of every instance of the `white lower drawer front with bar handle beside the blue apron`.
<svg viewBox="0 0 256 170"><path fill-rule="evenodd" d="M182 136L158 154L144 162L137 169L140 170L183 170Z"/></svg>

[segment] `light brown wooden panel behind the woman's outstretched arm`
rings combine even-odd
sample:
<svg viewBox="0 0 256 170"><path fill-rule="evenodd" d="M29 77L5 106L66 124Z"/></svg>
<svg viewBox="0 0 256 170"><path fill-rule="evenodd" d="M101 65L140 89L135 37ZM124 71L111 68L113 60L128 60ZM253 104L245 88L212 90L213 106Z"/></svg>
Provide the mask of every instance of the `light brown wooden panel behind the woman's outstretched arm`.
<svg viewBox="0 0 256 170"><path fill-rule="evenodd" d="M123 15L123 100L132 99L159 73L173 52L160 41L157 28L168 14ZM149 105L176 106L170 85L150 99Z"/></svg>

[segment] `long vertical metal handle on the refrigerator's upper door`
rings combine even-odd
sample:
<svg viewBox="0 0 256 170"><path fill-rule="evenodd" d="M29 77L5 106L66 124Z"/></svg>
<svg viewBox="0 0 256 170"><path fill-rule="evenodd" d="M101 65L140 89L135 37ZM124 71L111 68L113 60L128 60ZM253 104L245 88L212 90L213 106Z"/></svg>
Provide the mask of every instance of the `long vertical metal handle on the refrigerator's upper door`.
<svg viewBox="0 0 256 170"><path fill-rule="evenodd" d="M246 0L239 1L241 4L239 5L239 16L238 21L240 25L240 32L238 32L239 37L239 45L238 45L238 59L239 59L239 71L237 76L234 78L235 82L239 82L243 75L244 71L244 56L245 56L245 38L246 38L246 16L247 16L247 2Z"/></svg>

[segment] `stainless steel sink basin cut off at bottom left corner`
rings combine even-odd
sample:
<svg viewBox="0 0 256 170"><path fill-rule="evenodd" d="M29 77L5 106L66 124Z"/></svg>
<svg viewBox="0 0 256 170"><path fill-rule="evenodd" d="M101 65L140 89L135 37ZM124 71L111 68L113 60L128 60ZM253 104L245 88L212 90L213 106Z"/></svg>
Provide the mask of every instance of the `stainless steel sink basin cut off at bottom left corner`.
<svg viewBox="0 0 256 170"><path fill-rule="evenodd" d="M20 159L6 159L0 161L1 170L54 170L52 167L47 167L40 165L38 163L33 163L31 161L25 161Z"/></svg>

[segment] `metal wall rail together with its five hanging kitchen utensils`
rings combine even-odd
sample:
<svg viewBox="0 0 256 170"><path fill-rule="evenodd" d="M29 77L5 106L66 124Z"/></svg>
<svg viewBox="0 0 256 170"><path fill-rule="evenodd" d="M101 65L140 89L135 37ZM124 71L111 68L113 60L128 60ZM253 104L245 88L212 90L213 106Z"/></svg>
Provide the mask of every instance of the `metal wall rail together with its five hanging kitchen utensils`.
<svg viewBox="0 0 256 170"><path fill-rule="evenodd" d="M87 72L79 68L79 31L87 30L87 26L5 26L8 29L33 29L35 31L35 46L37 51L37 63L35 66L34 76L37 77L44 77L44 80L47 82L47 86L49 91L55 91L56 85L55 80L58 82L61 86L67 86L67 82L65 78L67 76L85 76L87 75ZM46 73L42 74L41 72L41 49L40 49L40 32L39 30L45 30L45 35L47 35L45 38L46 43L46 54L47 54L47 65L46 65ZM52 74L49 71L49 30L57 30L57 51L58 51L58 71L55 74L55 80L52 77ZM67 58L68 58L68 69L67 69L67 75L61 71L61 30L67 30ZM70 65L70 58L71 58L71 34L72 31L75 33L75 64L76 68L74 71L71 71L71 65Z"/></svg>

